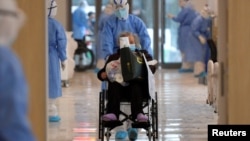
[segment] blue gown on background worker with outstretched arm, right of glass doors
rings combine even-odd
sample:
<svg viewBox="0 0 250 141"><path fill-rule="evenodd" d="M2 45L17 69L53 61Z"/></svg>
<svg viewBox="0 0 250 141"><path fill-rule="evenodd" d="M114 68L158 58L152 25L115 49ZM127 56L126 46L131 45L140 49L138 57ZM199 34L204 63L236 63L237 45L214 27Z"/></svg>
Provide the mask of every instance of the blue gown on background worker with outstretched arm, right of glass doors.
<svg viewBox="0 0 250 141"><path fill-rule="evenodd" d="M186 5L181 8L181 11L176 17L173 17L173 20L180 24L178 28L177 44L181 53L185 54L186 50L188 50L186 47L186 43L188 42L187 35L191 32L191 23L196 16L197 12L192 8L192 6Z"/></svg>

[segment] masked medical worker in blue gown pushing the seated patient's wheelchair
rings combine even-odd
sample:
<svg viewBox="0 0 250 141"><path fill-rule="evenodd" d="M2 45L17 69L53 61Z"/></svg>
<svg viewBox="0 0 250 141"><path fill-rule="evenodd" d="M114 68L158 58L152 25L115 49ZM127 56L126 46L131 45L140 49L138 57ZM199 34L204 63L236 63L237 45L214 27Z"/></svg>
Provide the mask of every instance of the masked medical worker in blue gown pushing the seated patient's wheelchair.
<svg viewBox="0 0 250 141"><path fill-rule="evenodd" d="M123 31L136 34L140 39L141 48L153 56L151 39L146 25L137 16L129 14L129 4L127 0L111 0L110 2L113 4L114 14L107 18L100 35L104 58L107 59L110 55L118 51L120 47L117 41ZM112 107L112 105L108 103L108 108L109 107ZM109 116L112 116L112 114L104 115L105 118L109 118ZM119 139L126 137L124 135L122 132L116 133L116 137ZM137 130L128 128L128 136L130 140L136 140Z"/></svg>

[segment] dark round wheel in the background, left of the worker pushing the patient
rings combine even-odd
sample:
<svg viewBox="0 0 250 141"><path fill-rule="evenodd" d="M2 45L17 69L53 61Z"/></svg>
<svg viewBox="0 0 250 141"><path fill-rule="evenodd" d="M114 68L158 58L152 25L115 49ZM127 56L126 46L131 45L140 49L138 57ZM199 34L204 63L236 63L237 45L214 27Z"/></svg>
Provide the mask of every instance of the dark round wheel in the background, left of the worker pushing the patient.
<svg viewBox="0 0 250 141"><path fill-rule="evenodd" d="M75 53L74 59L76 63L75 70L85 71L93 67L95 57L91 49L85 48L80 51L78 50Z"/></svg>

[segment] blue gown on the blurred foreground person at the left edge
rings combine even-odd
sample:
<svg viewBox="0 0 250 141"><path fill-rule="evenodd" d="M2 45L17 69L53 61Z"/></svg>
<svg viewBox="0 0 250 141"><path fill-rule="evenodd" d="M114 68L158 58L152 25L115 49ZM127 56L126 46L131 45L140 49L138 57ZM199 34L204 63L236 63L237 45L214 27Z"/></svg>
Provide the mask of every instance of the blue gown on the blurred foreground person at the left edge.
<svg viewBox="0 0 250 141"><path fill-rule="evenodd" d="M27 119L28 84L17 56L0 47L0 141L35 141Z"/></svg>

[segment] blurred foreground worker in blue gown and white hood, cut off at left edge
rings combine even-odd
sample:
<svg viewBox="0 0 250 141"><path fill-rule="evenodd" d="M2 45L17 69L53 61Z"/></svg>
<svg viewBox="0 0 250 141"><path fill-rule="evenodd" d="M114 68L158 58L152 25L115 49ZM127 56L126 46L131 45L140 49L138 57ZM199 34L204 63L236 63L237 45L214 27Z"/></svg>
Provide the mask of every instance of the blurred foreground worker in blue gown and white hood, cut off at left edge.
<svg viewBox="0 0 250 141"><path fill-rule="evenodd" d="M15 0L0 0L0 141L35 141L28 121L28 84L11 49L24 13Z"/></svg>

